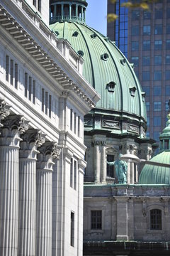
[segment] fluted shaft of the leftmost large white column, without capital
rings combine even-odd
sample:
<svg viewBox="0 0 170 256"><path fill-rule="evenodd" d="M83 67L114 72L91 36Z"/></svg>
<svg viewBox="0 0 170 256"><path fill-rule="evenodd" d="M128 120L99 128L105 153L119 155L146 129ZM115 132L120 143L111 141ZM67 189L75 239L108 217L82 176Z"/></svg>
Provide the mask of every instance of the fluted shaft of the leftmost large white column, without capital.
<svg viewBox="0 0 170 256"><path fill-rule="evenodd" d="M18 148L0 146L0 255L17 256Z"/></svg>

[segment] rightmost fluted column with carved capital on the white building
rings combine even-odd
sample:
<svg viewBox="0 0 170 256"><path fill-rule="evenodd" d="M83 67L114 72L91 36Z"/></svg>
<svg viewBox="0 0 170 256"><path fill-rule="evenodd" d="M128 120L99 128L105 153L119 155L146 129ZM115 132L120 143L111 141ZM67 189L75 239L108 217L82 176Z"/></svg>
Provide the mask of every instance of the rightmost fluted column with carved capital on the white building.
<svg viewBox="0 0 170 256"><path fill-rule="evenodd" d="M52 166L58 159L57 144L46 142L37 162L36 256L52 255Z"/></svg>

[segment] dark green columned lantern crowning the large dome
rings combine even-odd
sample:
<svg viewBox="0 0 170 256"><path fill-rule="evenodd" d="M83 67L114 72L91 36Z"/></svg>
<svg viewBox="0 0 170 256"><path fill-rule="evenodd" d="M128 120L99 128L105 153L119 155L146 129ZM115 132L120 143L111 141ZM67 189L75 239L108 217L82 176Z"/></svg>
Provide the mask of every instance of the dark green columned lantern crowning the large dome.
<svg viewBox="0 0 170 256"><path fill-rule="evenodd" d="M50 23L55 22L86 22L85 0L50 0Z"/></svg>

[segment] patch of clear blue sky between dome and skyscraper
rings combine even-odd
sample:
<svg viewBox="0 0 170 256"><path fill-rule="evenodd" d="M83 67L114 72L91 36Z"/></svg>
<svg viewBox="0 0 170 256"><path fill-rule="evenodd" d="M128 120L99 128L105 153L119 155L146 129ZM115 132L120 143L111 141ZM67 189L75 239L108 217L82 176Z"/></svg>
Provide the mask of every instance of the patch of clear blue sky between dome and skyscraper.
<svg viewBox="0 0 170 256"><path fill-rule="evenodd" d="M86 24L106 36L107 0L86 0Z"/></svg>

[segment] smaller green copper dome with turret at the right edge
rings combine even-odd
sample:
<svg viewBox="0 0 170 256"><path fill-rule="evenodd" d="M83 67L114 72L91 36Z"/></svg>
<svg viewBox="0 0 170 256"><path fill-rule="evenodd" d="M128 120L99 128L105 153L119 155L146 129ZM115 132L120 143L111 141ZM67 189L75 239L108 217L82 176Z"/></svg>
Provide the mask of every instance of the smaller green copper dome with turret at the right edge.
<svg viewBox="0 0 170 256"><path fill-rule="evenodd" d="M145 164L140 184L170 184L170 114L160 135L160 153Z"/></svg>

